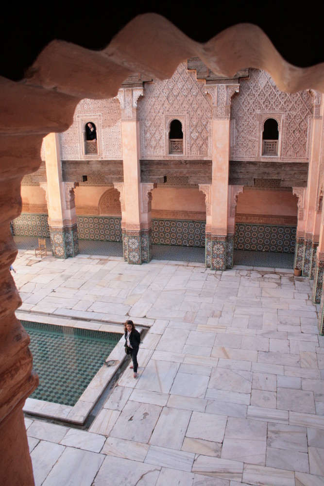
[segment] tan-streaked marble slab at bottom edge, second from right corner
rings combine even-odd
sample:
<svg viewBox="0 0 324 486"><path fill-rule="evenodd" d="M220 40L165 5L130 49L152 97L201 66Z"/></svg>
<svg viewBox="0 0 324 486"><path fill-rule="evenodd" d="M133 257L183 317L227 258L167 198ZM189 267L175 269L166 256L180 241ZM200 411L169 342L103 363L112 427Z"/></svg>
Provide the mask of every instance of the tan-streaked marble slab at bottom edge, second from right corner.
<svg viewBox="0 0 324 486"><path fill-rule="evenodd" d="M243 482L251 485L295 486L295 475L285 469L246 464L243 470Z"/></svg>

